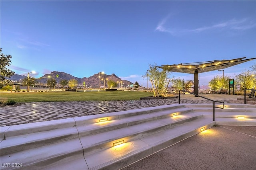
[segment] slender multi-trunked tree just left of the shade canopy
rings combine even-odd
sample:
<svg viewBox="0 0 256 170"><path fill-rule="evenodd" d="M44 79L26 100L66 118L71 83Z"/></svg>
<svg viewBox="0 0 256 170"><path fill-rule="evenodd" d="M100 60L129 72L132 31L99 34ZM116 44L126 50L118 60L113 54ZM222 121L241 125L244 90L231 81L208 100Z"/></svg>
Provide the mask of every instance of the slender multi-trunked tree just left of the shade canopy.
<svg viewBox="0 0 256 170"><path fill-rule="evenodd" d="M156 67L156 64L149 64L148 72L142 77L149 77L152 82L153 88L155 86L156 96L164 94L165 88L168 85L168 74L167 69L161 69Z"/></svg>

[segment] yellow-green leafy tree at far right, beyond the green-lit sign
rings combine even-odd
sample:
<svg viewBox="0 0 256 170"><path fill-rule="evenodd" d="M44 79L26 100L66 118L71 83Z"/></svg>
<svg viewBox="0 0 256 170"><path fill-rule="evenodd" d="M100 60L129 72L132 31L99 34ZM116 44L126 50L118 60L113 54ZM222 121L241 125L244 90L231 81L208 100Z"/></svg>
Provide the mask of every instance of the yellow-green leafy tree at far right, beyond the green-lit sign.
<svg viewBox="0 0 256 170"><path fill-rule="evenodd" d="M252 89L256 88L256 78L251 71L245 71L235 76L237 82L240 84L240 89Z"/></svg>

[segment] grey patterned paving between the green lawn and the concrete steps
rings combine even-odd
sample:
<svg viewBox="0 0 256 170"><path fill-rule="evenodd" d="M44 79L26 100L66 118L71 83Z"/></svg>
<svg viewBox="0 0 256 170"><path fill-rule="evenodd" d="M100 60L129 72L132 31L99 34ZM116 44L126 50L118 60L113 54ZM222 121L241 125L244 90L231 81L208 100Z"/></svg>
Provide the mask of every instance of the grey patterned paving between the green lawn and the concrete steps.
<svg viewBox="0 0 256 170"><path fill-rule="evenodd" d="M206 98L228 103L230 99L242 98L238 95L202 94ZM144 107L178 104L179 99L130 100L130 101L86 101L86 102L34 102L15 107L0 108L0 126L18 125L40 121L64 119L124 111ZM191 94L181 95L180 103L202 104L212 103Z"/></svg>

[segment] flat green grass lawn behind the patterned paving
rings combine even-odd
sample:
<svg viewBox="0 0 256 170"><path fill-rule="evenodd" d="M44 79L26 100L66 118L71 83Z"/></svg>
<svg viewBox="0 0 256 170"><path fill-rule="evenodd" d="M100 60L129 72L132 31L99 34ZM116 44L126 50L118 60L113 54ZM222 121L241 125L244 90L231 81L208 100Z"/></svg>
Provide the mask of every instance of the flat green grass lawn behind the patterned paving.
<svg viewBox="0 0 256 170"><path fill-rule="evenodd" d="M104 100L140 100L153 96L153 92L100 91L100 92L0 92L1 101L15 102L67 102L67 101L104 101Z"/></svg>

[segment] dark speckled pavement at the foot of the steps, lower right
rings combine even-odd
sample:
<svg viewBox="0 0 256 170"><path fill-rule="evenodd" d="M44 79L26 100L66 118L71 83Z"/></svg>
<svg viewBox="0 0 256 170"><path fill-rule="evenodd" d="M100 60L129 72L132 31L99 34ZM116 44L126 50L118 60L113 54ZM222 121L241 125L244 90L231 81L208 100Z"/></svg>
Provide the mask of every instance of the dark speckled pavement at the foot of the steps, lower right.
<svg viewBox="0 0 256 170"><path fill-rule="evenodd" d="M122 170L256 170L256 127L212 127Z"/></svg>

